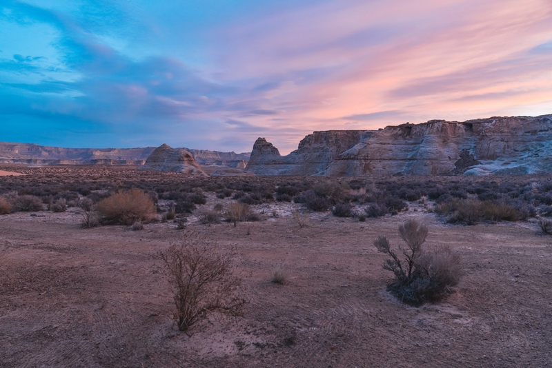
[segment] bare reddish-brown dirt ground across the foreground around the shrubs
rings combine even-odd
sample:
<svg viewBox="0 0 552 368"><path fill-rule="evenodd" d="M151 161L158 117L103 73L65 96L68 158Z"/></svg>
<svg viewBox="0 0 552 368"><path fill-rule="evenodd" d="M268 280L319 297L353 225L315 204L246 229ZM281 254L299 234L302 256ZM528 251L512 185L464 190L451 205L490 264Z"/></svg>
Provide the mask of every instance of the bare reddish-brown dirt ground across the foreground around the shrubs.
<svg viewBox="0 0 552 368"><path fill-rule="evenodd" d="M290 206L253 206L264 220L237 227L190 218L213 246L237 246L250 300L243 317L212 314L190 336L156 257L184 234L174 223L81 229L76 208L0 216L0 367L552 366L552 236L535 223L447 225L411 205L364 223L310 214L300 228ZM372 244L399 244L412 217L427 244L462 255L466 274L437 305L390 296ZM288 285L270 283L277 267Z"/></svg>

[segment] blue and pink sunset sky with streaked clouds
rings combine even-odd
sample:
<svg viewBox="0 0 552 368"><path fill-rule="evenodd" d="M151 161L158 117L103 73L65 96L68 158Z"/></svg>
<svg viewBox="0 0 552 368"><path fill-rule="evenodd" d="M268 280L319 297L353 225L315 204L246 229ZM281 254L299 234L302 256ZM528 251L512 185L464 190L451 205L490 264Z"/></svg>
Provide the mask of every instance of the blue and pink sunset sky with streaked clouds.
<svg viewBox="0 0 552 368"><path fill-rule="evenodd" d="M551 113L550 0L0 0L0 141L287 154Z"/></svg>

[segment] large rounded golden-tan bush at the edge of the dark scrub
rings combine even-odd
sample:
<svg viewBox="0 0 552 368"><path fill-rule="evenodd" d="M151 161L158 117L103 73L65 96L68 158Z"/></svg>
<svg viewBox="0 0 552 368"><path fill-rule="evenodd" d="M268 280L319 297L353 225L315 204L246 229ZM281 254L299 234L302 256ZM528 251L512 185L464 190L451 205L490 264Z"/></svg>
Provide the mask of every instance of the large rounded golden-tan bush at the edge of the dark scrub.
<svg viewBox="0 0 552 368"><path fill-rule="evenodd" d="M152 198L137 188L112 193L96 204L96 210L106 224L132 225L135 221L150 222L157 218Z"/></svg>

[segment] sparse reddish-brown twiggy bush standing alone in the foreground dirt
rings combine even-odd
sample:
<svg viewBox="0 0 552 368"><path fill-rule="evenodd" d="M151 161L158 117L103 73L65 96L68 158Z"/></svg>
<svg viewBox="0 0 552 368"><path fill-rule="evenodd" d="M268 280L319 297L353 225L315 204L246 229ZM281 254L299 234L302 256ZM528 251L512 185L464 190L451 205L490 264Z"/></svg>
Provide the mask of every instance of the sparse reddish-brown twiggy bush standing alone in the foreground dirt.
<svg viewBox="0 0 552 368"><path fill-rule="evenodd" d="M193 232L159 252L175 294L174 318L180 331L187 331L210 311L233 315L242 311L246 300L241 295L242 280L233 274L235 254L235 249L222 252Z"/></svg>

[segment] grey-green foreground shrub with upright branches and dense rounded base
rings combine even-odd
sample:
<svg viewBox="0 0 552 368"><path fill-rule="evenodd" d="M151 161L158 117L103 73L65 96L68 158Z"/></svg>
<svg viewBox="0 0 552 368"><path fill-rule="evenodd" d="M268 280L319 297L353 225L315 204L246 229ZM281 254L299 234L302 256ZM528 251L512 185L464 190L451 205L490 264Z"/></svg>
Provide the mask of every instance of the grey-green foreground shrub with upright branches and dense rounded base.
<svg viewBox="0 0 552 368"><path fill-rule="evenodd" d="M462 276L460 256L446 246L422 247L428 229L415 220L400 225L399 234L407 248L399 247L398 255L391 249L386 236L380 235L374 241L379 252L391 256L383 266L395 275L388 291L403 303L411 305L435 302L450 294Z"/></svg>

